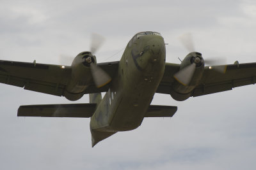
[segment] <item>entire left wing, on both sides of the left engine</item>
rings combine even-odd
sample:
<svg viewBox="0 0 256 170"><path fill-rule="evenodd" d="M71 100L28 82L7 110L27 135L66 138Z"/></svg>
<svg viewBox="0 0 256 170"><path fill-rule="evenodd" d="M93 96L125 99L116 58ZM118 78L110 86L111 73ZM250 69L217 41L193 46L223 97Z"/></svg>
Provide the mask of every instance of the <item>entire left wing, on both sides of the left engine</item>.
<svg viewBox="0 0 256 170"><path fill-rule="evenodd" d="M98 66L113 77L118 68L118 62L105 62ZM26 90L63 96L70 77L70 66L0 60L0 83L22 87ZM108 91L108 85L97 89L92 82L84 93L106 91Z"/></svg>

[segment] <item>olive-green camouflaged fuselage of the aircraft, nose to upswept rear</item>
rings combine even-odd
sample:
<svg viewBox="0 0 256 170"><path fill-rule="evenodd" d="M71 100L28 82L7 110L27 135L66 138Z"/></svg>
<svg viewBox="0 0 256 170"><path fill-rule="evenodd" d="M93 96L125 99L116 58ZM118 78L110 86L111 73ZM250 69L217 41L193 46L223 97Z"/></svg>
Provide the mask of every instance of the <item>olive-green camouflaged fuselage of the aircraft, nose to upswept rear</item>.
<svg viewBox="0 0 256 170"><path fill-rule="evenodd" d="M93 114L93 131L130 131L141 125L165 64L163 37L157 32L140 32L129 41L110 89Z"/></svg>

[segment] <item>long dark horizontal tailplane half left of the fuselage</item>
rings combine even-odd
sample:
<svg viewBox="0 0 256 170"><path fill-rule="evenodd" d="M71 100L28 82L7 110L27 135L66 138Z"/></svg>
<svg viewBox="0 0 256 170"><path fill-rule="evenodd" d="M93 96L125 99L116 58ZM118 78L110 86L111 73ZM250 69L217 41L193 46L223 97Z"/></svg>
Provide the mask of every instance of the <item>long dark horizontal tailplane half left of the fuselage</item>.
<svg viewBox="0 0 256 170"><path fill-rule="evenodd" d="M18 117L92 117L97 104L42 104L20 106Z"/></svg>

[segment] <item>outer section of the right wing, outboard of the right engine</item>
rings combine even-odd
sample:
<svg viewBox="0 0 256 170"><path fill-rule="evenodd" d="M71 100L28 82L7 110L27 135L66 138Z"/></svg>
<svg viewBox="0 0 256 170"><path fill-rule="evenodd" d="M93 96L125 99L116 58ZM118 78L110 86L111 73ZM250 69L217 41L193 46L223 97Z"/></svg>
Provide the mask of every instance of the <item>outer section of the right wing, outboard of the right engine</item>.
<svg viewBox="0 0 256 170"><path fill-rule="evenodd" d="M220 73L205 67L200 85L192 96L202 96L216 92L232 90L235 87L252 85L256 82L256 63L227 65L226 73Z"/></svg>

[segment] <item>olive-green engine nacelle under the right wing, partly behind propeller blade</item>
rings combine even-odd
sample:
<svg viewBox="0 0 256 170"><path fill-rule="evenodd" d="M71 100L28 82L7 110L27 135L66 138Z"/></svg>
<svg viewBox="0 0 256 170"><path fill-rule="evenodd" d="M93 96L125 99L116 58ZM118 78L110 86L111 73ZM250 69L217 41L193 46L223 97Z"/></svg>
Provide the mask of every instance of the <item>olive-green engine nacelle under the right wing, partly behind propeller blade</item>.
<svg viewBox="0 0 256 170"><path fill-rule="evenodd" d="M180 64L180 70L184 69L184 67L188 67L193 63L196 64L196 68L189 85L182 85L177 80L175 80L175 82L172 85L171 96L173 99L177 101L184 101L188 99L191 96L191 92L195 89L198 83L200 83L200 80L204 73L204 59L202 58L201 53L198 53L198 52L189 53L185 57L185 59L182 60Z"/></svg>

